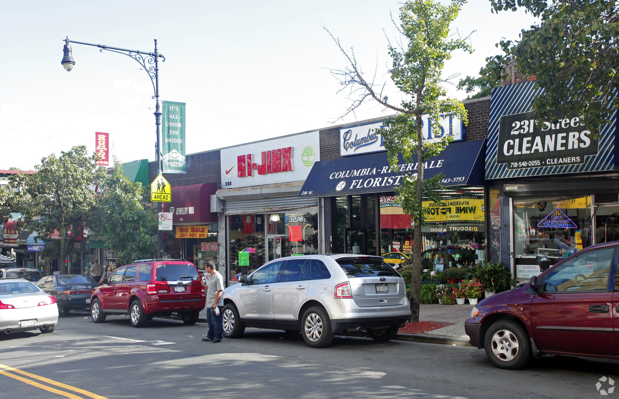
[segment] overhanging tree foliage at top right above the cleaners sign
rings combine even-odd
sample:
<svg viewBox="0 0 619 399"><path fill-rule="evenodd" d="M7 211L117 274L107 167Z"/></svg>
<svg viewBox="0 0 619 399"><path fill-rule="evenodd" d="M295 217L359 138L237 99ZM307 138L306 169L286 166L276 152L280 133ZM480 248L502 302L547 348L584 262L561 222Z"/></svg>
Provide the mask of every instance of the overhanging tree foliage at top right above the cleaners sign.
<svg viewBox="0 0 619 399"><path fill-rule="evenodd" d="M493 12L524 7L538 25L522 30L519 41L501 40L504 54L488 57L483 75L506 79L514 64L521 74L535 75L543 88L532 106L540 119L581 115L587 126L604 126L619 109L619 18L617 2L608 0L491 0ZM599 131L592 136L599 136Z"/></svg>

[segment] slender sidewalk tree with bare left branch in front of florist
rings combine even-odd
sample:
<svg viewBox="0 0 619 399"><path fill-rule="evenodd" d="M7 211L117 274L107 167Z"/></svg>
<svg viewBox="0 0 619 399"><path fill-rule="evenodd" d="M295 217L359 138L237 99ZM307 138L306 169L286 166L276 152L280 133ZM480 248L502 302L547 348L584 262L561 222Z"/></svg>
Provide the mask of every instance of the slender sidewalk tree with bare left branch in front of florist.
<svg viewBox="0 0 619 399"><path fill-rule="evenodd" d="M466 39L452 38L449 33L449 25L456 19L464 2L451 0L444 6L433 0L409 0L400 7L400 23L397 28L401 38L396 41L399 46L396 47L391 42L388 46L392 58L389 69L391 80L403 98L397 106L383 93L385 84L378 85L366 80L353 50L345 51L340 41L329 32L349 63L344 70L331 70L332 75L339 78L340 84L344 86L342 90L350 90L348 98L351 104L342 117L354 112L366 99L373 99L384 107L399 112L385 121L391 127L383 133L391 166L395 169L400 163L399 154L405 162L413 162L413 154L417 154L417 173L405 172L402 185L396 188L402 201L402 210L410 214L412 219L414 240L410 303L413 322L419 320L422 225L426 213L422 206L423 197L436 200L438 194L434 190L442 187L442 175L424 180L424 162L428 157L440 153L451 141L451 136L444 136L438 142L424 143L422 115L428 115L431 131L437 137L441 136L441 112L452 113L465 124L468 122L464 104L456 99L444 98L446 90L443 83L451 77L441 76L444 62L451 58L453 51L463 49L472 52ZM420 123L417 123L418 121Z"/></svg>

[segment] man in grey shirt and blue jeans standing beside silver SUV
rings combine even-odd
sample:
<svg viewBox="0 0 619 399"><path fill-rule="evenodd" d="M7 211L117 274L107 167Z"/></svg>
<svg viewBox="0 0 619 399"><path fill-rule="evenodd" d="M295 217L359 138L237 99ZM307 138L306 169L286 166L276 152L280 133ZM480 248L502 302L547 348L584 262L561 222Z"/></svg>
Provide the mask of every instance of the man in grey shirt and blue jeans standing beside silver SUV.
<svg viewBox="0 0 619 399"><path fill-rule="evenodd" d="M209 332L202 341L221 342L223 336L223 276L215 269L215 263L208 261L206 271L210 274L208 282L201 281L206 288L206 321Z"/></svg>

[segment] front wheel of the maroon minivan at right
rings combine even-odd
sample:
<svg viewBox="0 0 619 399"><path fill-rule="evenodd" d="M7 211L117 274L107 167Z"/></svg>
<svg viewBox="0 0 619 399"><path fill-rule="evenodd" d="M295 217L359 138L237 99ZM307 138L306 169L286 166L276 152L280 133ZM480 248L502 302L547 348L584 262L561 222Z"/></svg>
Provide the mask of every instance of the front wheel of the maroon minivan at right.
<svg viewBox="0 0 619 399"><path fill-rule="evenodd" d="M495 321L483 339L486 355L498 368L517 370L531 359L529 334L517 322Z"/></svg>

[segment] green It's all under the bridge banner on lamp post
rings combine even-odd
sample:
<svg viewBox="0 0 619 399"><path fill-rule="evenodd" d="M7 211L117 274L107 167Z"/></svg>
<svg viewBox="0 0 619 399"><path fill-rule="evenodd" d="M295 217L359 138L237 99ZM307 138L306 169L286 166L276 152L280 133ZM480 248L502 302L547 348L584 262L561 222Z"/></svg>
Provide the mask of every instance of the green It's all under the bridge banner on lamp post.
<svg viewBox="0 0 619 399"><path fill-rule="evenodd" d="M185 174L185 103L163 101L163 173Z"/></svg>

